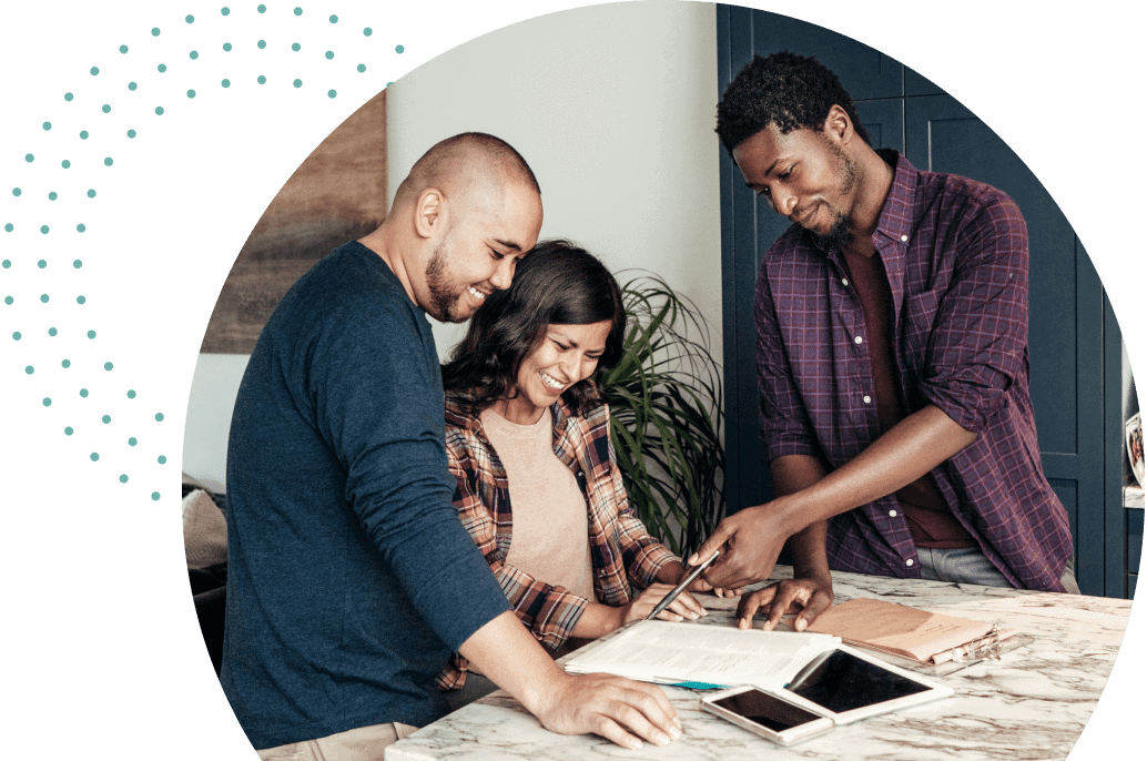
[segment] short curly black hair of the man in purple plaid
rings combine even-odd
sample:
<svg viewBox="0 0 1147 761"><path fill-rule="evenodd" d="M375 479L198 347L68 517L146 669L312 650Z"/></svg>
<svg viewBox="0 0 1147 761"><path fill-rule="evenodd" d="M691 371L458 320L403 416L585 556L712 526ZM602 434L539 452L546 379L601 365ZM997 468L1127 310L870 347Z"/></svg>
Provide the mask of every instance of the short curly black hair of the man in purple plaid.
<svg viewBox="0 0 1147 761"><path fill-rule="evenodd" d="M775 124L781 134L798 127L819 132L833 106L843 108L856 133L872 145L841 80L817 59L787 51L767 59L755 55L728 83L717 103L717 135L733 153L770 124Z"/></svg>

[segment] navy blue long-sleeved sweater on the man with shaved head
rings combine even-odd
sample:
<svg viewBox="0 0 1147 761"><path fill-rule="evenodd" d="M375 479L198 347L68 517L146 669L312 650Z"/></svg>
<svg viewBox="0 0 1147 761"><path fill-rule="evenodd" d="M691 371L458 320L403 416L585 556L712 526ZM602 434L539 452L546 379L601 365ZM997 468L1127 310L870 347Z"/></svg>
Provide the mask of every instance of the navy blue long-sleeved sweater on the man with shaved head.
<svg viewBox="0 0 1147 761"><path fill-rule="evenodd" d="M443 428L424 312L376 254L335 249L267 321L231 426L220 682L256 748L434 721L435 674L508 609Z"/></svg>

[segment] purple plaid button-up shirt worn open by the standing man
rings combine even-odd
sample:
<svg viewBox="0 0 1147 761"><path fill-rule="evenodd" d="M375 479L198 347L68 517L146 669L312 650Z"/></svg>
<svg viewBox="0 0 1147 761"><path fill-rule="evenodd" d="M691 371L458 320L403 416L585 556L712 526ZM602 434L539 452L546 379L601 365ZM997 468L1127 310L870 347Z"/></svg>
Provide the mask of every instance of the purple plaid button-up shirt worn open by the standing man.
<svg viewBox="0 0 1147 761"><path fill-rule="evenodd" d="M896 170L873 233L895 305L891 336L910 412L929 404L978 434L931 475L957 520L1012 582L1063 591L1068 515L1039 463L1028 393L1028 231L996 188ZM762 437L772 460L809 455L835 469L880 435L865 319L838 251L793 225L757 278ZM835 517L829 565L920 577L896 495Z"/></svg>

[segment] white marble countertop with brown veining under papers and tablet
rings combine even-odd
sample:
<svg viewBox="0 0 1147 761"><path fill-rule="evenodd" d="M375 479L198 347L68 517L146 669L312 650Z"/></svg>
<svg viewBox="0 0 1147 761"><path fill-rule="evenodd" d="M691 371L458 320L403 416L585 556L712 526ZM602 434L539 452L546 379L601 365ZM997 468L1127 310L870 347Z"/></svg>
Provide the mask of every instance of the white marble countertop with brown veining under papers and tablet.
<svg viewBox="0 0 1147 761"><path fill-rule="evenodd" d="M779 568L777 577L787 575ZM446 716L387 750L387 761L531 759L720 760L793 758L837 761L1067 758L1107 684L1130 600L1024 592L968 584L834 574L837 601L879 597L937 613L994 621L1027 644L944 677L955 696L838 727L790 748L704 713L697 692L666 688L685 729L668 747L626 751L593 736L541 728L502 692ZM710 626L732 626L733 600L707 596ZM1025 637L1025 640L1028 638Z"/></svg>

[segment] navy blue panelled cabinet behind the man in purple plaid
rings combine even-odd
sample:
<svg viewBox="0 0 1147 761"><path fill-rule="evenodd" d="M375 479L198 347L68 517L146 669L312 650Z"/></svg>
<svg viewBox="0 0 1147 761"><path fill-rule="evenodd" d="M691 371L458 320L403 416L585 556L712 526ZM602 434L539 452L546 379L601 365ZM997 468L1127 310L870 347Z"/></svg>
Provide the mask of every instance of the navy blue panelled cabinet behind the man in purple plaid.
<svg viewBox="0 0 1147 761"><path fill-rule="evenodd" d="M1029 344L1040 457L1068 508L1076 570L1089 595L1129 596L1142 519L1123 508L1118 325L1067 217L1019 156L975 114L926 77L851 38L764 10L718 6L724 92L754 54L814 55L841 78L875 147L918 169L989 183L1023 211L1031 246ZM728 511L772 495L757 434L752 289L759 256L787 227L744 187L721 153L721 244ZM1113 386L1113 372L1114 383ZM1114 413L1113 413L1114 410ZM1141 541L1141 539L1139 539Z"/></svg>

